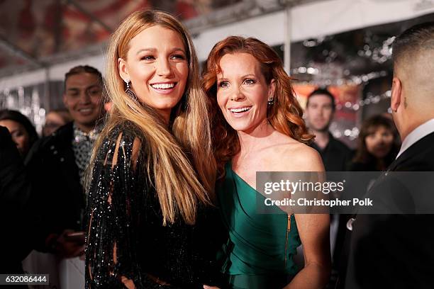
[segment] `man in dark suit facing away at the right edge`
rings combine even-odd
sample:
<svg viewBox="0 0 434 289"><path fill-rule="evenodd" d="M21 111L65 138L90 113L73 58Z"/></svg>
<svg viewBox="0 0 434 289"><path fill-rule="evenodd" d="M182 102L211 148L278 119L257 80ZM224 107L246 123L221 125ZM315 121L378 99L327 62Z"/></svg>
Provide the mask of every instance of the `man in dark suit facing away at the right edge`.
<svg viewBox="0 0 434 289"><path fill-rule="evenodd" d="M434 22L399 35L393 57L391 109L403 143L388 171L434 171ZM430 189L424 193L434 198ZM406 193L384 174L367 197L382 200L387 212ZM434 288L434 215L357 215L347 227L345 288Z"/></svg>

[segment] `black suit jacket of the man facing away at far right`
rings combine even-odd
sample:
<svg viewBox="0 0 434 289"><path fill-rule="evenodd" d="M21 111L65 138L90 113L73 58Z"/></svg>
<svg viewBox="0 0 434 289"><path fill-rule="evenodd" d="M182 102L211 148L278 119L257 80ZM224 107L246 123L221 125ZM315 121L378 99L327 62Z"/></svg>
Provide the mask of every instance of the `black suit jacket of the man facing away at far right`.
<svg viewBox="0 0 434 289"><path fill-rule="evenodd" d="M433 144L434 132L409 147L388 171L434 171ZM388 193L404 197L388 178L379 179L367 197L380 196L386 209ZM434 198L434 188L432 193ZM357 215L349 236L345 288L434 288L434 215Z"/></svg>

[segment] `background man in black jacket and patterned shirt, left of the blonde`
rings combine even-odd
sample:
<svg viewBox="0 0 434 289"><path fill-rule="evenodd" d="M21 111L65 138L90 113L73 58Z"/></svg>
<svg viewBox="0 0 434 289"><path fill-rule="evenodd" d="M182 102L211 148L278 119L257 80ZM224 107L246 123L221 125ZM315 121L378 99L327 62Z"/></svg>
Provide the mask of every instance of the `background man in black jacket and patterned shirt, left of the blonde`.
<svg viewBox="0 0 434 289"><path fill-rule="evenodd" d="M91 148L101 131L103 116L101 73L94 67L74 67L65 75L63 101L74 121L37 142L27 166L35 193L33 207L42 218L39 251L61 257L83 254L86 196L83 185Z"/></svg>

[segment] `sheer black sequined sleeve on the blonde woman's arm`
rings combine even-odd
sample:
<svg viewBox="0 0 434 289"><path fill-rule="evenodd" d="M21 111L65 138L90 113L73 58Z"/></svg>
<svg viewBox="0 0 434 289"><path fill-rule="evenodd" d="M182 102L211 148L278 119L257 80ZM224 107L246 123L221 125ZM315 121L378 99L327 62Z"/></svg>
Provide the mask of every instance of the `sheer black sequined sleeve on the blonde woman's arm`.
<svg viewBox="0 0 434 289"><path fill-rule="evenodd" d="M136 180L139 152L138 138L124 130L113 131L97 154L87 210L86 288L173 288L154 282L138 260L146 193Z"/></svg>

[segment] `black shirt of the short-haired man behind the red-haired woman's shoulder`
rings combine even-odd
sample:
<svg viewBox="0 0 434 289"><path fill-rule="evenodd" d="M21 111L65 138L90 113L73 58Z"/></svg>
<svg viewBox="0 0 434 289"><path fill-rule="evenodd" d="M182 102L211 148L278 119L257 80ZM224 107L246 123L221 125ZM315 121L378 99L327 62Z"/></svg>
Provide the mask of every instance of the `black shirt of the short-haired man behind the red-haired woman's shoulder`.
<svg viewBox="0 0 434 289"><path fill-rule="evenodd" d="M340 140L336 140L329 133L329 141L324 149L321 149L315 142L311 147L316 149L323 159L325 171L346 171L352 159L352 151Z"/></svg>

